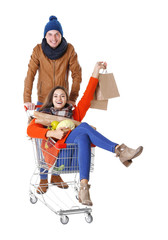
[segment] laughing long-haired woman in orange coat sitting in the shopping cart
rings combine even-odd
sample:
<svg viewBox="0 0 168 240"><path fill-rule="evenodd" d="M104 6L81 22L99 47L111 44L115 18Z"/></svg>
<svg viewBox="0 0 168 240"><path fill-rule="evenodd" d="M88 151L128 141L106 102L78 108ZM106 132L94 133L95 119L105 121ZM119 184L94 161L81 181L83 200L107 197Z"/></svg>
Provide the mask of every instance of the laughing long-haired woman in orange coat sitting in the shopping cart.
<svg viewBox="0 0 168 240"><path fill-rule="evenodd" d="M54 88L46 102L44 103L41 111L60 116L63 112L65 117L73 118L77 121L82 121L88 108L90 107L90 102L93 99L93 95L98 83L99 70L105 69L106 63L98 62L95 65L92 77L88 83L85 93L78 105L72 109L73 106L67 104L68 96L66 91L61 87ZM61 115L62 116L62 115ZM116 153L120 158L121 162L125 166L129 166L132 163L132 159L139 156L143 150L142 147L137 149L128 148L126 145L119 145L117 143L111 142L103 135L98 133L87 123L81 123L73 131L68 133L64 129L49 130L43 127L43 125L36 124L33 120L28 126L27 133L30 137L35 138L54 138L58 142L66 143L76 143L78 145L78 161L79 161L79 171L80 171L80 191L79 191L79 201L84 205L92 205L92 201L89 195L89 170L90 170L90 148L91 143L95 146L108 150L110 152ZM47 180L40 181L40 187L47 191ZM45 185L45 187L44 187Z"/></svg>

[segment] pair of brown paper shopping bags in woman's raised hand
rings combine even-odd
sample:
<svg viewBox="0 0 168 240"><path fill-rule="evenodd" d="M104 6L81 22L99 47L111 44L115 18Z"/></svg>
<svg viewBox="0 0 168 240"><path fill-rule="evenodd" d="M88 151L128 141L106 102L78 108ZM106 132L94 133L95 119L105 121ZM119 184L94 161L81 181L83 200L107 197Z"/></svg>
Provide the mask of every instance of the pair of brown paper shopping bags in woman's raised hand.
<svg viewBox="0 0 168 240"><path fill-rule="evenodd" d="M108 99L119 96L113 73L99 74L99 83L90 107L107 110Z"/></svg>

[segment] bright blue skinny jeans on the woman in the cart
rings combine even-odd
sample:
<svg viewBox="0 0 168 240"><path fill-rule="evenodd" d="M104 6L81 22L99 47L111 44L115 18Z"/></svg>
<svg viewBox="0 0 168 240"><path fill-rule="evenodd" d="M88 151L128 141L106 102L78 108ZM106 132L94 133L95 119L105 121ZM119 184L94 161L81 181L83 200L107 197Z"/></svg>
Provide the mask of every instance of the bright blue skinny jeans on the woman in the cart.
<svg viewBox="0 0 168 240"><path fill-rule="evenodd" d="M113 153L115 152L116 145L118 145L117 143L111 142L109 139L105 138L87 123L81 123L78 127L76 127L67 137L66 143L75 143L78 145L77 159L79 163L80 180L89 180L91 143ZM61 158L62 156L60 159ZM58 165L61 165L61 162L59 163L59 156L57 163ZM46 179L47 174L46 176L43 175L42 178Z"/></svg>

